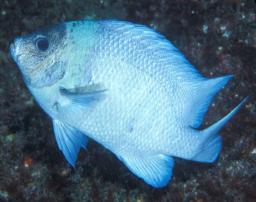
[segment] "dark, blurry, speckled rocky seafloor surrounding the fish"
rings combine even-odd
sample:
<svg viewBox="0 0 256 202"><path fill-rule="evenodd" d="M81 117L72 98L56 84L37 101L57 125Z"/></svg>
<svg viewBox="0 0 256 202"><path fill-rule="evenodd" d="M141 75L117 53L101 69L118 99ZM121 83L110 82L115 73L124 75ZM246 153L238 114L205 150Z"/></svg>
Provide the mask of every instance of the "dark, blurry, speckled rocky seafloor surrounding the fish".
<svg viewBox="0 0 256 202"><path fill-rule="evenodd" d="M256 6L253 0L2 0L0 2L0 201L256 201ZM222 128L213 163L175 158L172 180L153 188L89 140L74 170L51 118L9 53L15 37L69 20L116 19L156 29L207 78L233 74L202 128L247 102Z"/></svg>

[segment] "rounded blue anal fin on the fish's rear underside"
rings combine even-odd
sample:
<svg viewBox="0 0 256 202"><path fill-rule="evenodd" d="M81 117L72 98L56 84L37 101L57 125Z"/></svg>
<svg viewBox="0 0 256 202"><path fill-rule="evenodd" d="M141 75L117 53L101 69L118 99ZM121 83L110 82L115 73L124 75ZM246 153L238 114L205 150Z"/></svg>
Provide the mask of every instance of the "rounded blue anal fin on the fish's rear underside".
<svg viewBox="0 0 256 202"><path fill-rule="evenodd" d="M118 156L119 157L119 156ZM163 154L119 157L122 162L137 176L156 188L164 187L172 177L174 160Z"/></svg>

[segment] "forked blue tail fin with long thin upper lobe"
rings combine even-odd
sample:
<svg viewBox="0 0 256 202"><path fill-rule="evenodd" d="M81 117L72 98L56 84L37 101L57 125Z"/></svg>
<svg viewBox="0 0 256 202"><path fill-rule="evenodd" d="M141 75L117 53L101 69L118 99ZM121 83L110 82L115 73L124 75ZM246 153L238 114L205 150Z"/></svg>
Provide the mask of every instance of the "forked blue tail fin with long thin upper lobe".
<svg viewBox="0 0 256 202"><path fill-rule="evenodd" d="M204 145L201 147L201 152L190 160L199 162L213 162L217 158L219 152L221 151L221 137L218 136L217 133L222 126L236 113L247 98L245 98L243 102L241 102L236 108L227 114L226 117L203 130L202 136L204 136L206 139L204 141Z"/></svg>

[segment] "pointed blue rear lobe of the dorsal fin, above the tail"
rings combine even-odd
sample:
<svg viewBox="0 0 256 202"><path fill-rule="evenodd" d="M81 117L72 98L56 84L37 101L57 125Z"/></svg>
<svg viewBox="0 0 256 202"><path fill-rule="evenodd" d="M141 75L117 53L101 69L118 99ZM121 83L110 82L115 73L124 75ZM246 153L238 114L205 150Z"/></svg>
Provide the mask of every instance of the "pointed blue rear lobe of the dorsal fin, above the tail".
<svg viewBox="0 0 256 202"><path fill-rule="evenodd" d="M190 101L190 123L192 128L198 128L207 112L208 106L215 94L226 85L233 75L203 79L193 84L193 94Z"/></svg>

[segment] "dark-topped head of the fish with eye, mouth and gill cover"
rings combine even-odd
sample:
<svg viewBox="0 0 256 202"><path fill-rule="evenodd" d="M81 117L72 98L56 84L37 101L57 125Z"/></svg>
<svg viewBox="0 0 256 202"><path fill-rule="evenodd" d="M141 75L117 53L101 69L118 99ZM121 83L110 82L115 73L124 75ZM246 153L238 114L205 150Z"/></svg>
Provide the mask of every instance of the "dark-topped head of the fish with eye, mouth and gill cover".
<svg viewBox="0 0 256 202"><path fill-rule="evenodd" d="M26 85L44 87L64 77L66 37L66 25L61 23L15 38L10 52Z"/></svg>

